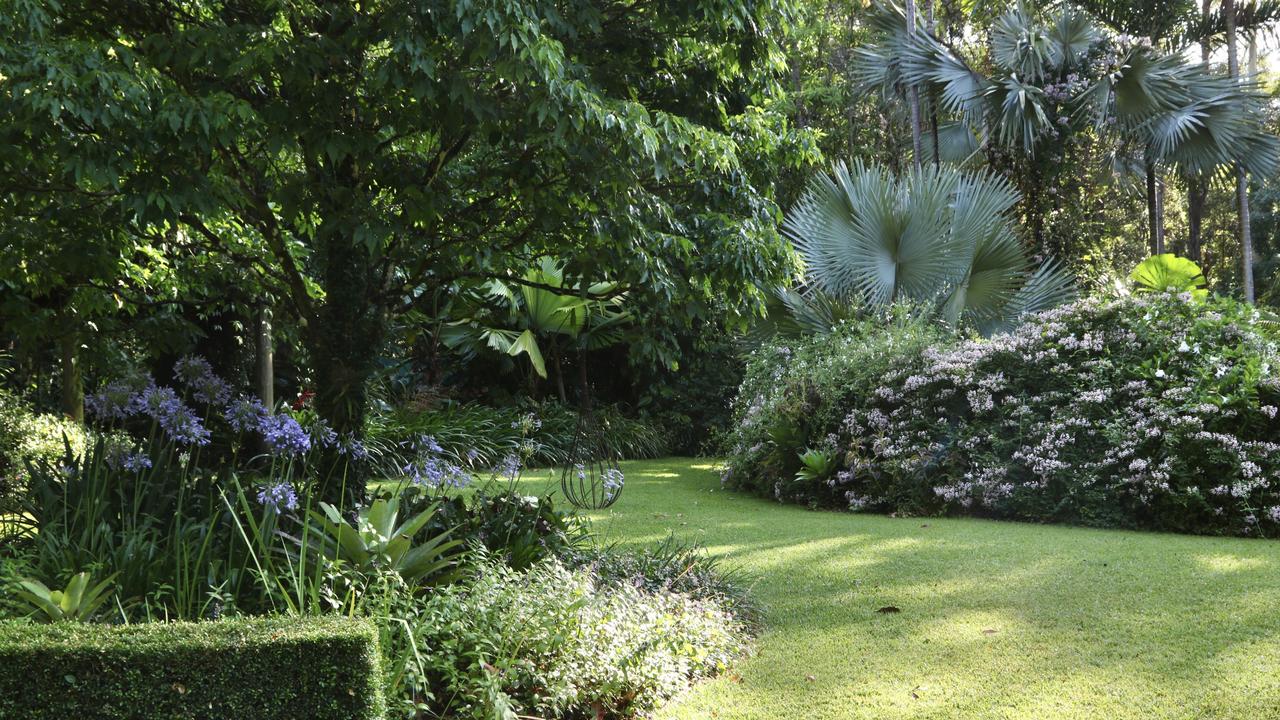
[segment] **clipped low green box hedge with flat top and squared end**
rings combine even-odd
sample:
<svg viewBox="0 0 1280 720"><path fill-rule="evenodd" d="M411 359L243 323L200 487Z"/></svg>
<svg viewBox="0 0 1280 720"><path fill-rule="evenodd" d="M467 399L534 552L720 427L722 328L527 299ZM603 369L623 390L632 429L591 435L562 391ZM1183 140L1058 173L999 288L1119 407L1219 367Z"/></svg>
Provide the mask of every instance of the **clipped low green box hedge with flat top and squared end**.
<svg viewBox="0 0 1280 720"><path fill-rule="evenodd" d="M0 719L380 720L378 632L343 618L0 623Z"/></svg>

